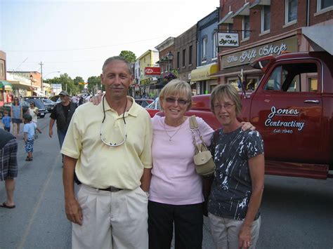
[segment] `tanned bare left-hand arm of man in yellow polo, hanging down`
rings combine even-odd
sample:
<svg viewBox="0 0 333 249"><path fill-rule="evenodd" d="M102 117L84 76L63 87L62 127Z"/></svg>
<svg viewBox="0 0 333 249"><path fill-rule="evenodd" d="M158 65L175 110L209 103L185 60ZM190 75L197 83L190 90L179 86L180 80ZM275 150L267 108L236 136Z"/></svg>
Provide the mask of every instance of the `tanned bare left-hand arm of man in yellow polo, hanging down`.
<svg viewBox="0 0 333 249"><path fill-rule="evenodd" d="M77 159L64 156L63 185L65 194L65 212L67 219L81 225L83 220L82 210L75 198L74 172Z"/></svg>

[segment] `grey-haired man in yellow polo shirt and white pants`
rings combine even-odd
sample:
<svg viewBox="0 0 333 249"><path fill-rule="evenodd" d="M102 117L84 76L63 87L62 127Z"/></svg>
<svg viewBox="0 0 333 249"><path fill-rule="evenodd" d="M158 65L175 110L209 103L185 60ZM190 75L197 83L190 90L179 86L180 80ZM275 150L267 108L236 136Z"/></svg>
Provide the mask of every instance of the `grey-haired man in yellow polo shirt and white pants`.
<svg viewBox="0 0 333 249"><path fill-rule="evenodd" d="M72 248L148 248L150 116L127 96L133 75L124 58L105 60L100 76L102 105L77 108L61 149Z"/></svg>

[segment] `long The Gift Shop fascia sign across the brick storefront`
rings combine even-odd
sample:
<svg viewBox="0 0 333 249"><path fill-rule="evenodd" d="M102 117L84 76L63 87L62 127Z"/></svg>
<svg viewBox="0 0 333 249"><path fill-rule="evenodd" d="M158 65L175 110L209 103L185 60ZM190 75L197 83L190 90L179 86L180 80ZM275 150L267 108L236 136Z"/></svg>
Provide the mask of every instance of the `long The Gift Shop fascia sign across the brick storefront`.
<svg viewBox="0 0 333 249"><path fill-rule="evenodd" d="M246 51L224 55L222 58L222 66L223 68L226 68L249 64L266 55L280 55L283 51L297 52L296 36L250 48Z"/></svg>

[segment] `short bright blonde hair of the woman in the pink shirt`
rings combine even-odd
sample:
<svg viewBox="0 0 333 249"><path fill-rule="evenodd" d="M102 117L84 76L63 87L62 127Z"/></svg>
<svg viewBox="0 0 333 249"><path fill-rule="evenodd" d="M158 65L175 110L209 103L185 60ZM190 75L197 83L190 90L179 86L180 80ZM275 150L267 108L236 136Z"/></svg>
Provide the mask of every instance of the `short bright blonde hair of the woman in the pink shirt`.
<svg viewBox="0 0 333 249"><path fill-rule="evenodd" d="M173 79L167 83L159 93L159 100L165 100L166 97L171 95L184 96L188 100L188 111L192 107L192 90L190 84L180 79Z"/></svg>

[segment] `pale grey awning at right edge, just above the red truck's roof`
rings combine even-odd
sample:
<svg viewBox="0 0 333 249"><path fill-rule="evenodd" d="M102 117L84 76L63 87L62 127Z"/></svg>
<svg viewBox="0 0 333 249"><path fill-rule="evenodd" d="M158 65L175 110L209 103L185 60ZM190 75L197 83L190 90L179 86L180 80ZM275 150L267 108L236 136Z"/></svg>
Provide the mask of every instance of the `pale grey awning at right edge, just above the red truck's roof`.
<svg viewBox="0 0 333 249"><path fill-rule="evenodd" d="M333 26L311 26L302 27L302 34L310 41L315 51L327 51L333 55L332 37Z"/></svg>

